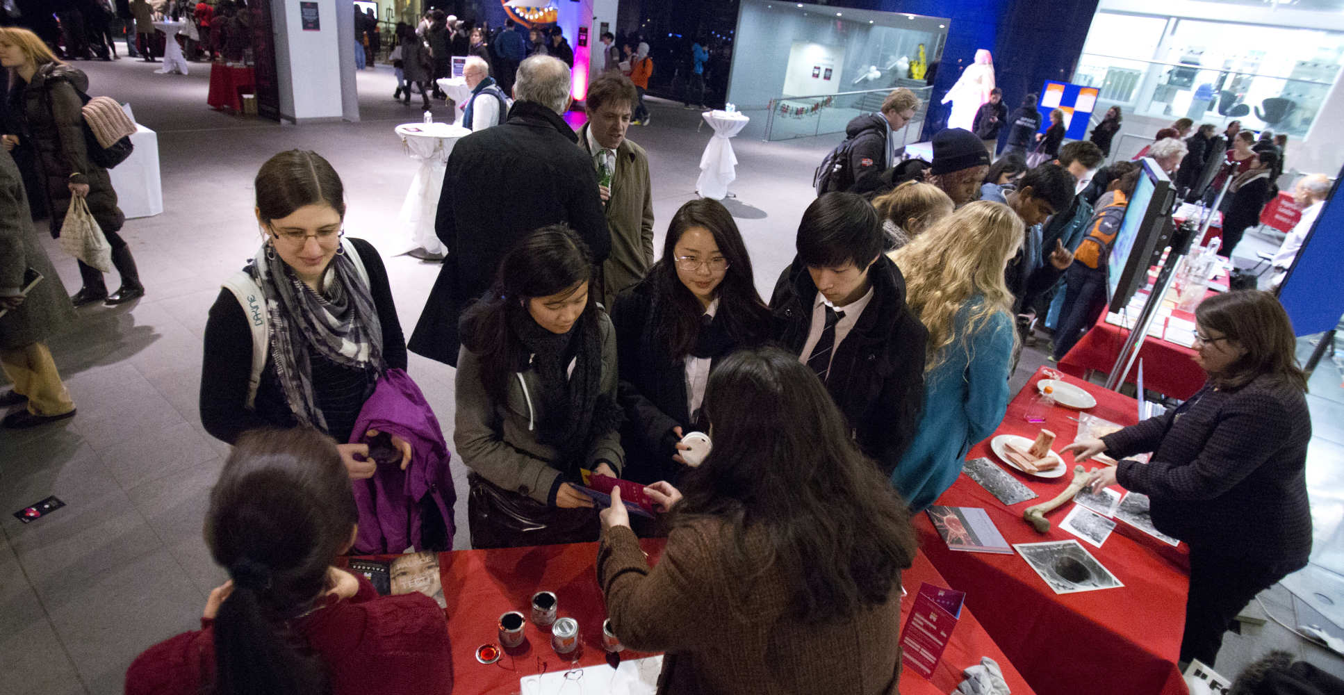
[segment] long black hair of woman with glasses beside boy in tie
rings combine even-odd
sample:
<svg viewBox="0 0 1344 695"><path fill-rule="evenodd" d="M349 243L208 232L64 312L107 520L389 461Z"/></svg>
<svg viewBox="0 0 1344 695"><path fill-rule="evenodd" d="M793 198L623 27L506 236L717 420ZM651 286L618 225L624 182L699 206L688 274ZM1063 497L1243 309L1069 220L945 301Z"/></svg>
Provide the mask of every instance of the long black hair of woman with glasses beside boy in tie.
<svg viewBox="0 0 1344 695"><path fill-rule="evenodd" d="M716 289L719 308L714 320L724 327L734 345L757 345L770 333L770 309L755 289L751 257L747 255L738 224L723 203L700 198L685 203L672 215L663 242L663 257L653 263L648 276L656 296L667 302L653 321L659 341L667 345L673 360L685 358L695 348L700 316L704 313L700 300L677 277L675 265L677 242L687 230L695 227L703 227L714 235L714 243L728 262L723 282Z"/></svg>

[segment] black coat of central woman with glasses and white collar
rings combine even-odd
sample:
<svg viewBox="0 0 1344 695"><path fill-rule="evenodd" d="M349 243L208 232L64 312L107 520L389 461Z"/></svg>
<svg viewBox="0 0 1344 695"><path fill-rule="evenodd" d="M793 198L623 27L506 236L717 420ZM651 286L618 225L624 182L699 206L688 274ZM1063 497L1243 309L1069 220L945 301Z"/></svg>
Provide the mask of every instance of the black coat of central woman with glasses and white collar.
<svg viewBox="0 0 1344 695"><path fill-rule="evenodd" d="M657 335L659 317L675 311L668 297L659 296L656 278L645 278L616 297L612 323L616 324L617 364L621 372L620 399L625 409L621 448L626 453L626 479L637 483L676 483L685 468L672 460L676 436L698 425L691 421L687 403L685 360L673 359L665 341ZM723 316L723 309L716 313ZM719 359L745 347L757 347L770 339L770 321L763 320L754 337L730 343L711 359L710 370Z"/></svg>

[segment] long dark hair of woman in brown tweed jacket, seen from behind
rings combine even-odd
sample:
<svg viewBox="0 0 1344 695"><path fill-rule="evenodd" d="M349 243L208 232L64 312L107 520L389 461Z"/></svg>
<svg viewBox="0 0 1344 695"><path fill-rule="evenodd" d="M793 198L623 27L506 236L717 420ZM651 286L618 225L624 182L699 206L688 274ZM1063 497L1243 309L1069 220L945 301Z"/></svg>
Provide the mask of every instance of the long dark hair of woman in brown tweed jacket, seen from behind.
<svg viewBox="0 0 1344 695"><path fill-rule="evenodd" d="M683 476L672 526L722 524L720 561L742 577L742 594L778 573L804 622L886 602L914 562L909 511L816 374L775 347L739 350L710 375L704 407L714 450ZM766 566L747 550L757 532Z"/></svg>

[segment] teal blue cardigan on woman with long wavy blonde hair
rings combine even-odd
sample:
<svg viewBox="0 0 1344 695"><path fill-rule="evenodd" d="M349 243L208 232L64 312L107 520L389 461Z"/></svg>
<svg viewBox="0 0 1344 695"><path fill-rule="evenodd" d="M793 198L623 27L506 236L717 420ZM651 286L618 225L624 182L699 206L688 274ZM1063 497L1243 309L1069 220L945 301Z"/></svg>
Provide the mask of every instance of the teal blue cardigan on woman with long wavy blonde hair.
<svg viewBox="0 0 1344 695"><path fill-rule="evenodd" d="M943 348L946 359L925 374L923 415L915 440L891 473L891 484L911 514L926 509L952 487L966 452L988 437L1008 410L1013 323L1005 312L996 312L968 335L966 321L981 301L973 297L957 312L956 339Z"/></svg>

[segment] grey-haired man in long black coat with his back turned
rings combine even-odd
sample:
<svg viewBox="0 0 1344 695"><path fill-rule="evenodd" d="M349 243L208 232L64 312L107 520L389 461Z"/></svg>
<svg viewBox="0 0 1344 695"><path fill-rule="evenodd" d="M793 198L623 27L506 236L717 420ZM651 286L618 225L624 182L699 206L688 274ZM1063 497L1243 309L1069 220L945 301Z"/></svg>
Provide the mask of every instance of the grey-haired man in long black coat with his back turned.
<svg viewBox="0 0 1344 695"><path fill-rule="evenodd" d="M612 235L597 171L562 117L570 87L570 69L559 59L523 60L508 118L453 147L434 219L448 257L411 333L411 351L456 367L462 309L489 288L504 254L539 227L566 223L594 263L606 259Z"/></svg>

